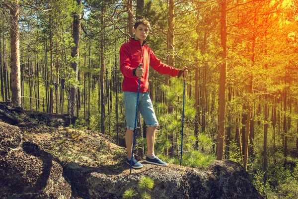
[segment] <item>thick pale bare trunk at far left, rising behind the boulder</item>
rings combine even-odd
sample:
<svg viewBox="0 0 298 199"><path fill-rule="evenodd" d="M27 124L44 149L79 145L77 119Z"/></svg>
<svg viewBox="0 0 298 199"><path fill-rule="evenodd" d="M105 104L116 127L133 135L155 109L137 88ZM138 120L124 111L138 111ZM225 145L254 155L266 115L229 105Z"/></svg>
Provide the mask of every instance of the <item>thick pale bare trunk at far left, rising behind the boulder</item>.
<svg viewBox="0 0 298 199"><path fill-rule="evenodd" d="M10 9L10 67L11 67L11 100L15 106L21 106L20 82L20 43L19 43L19 4L13 0Z"/></svg>

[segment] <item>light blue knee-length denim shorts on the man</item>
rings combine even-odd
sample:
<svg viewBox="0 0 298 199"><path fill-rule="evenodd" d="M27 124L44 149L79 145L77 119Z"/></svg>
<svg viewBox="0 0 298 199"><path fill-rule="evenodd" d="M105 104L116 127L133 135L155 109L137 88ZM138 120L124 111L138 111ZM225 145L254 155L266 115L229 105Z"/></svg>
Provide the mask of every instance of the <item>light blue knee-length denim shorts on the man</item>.
<svg viewBox="0 0 298 199"><path fill-rule="evenodd" d="M137 105L137 95L135 92L123 92L124 93L124 107L125 107L125 119L126 128L134 130L135 119L136 119L136 105ZM156 115L154 113L152 101L149 97L149 93L139 94L138 110L140 111L142 117L144 118L147 126L158 126Z"/></svg>

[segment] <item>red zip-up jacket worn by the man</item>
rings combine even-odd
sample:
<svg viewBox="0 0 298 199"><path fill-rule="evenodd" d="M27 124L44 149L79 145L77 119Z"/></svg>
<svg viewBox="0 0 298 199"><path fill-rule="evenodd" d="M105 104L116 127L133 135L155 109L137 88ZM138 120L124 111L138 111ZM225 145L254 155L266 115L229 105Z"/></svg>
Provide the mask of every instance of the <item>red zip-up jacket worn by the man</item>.
<svg viewBox="0 0 298 199"><path fill-rule="evenodd" d="M140 93L148 92L149 87L149 66L151 66L158 73L170 75L172 77L178 76L179 69L173 68L160 62L153 53L153 51L144 44L141 46L141 41L130 39L129 42L124 43L120 47L120 71L124 76L122 82L122 90L129 92L138 92L139 78L134 77L133 70L137 68L140 63L143 63L144 73L141 77Z"/></svg>

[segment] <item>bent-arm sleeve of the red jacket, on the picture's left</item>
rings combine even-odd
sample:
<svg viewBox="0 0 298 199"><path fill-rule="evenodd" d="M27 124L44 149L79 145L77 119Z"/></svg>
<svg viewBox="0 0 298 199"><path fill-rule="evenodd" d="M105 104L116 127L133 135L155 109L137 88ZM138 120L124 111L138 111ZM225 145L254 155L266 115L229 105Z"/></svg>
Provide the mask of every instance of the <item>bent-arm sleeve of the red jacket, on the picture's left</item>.
<svg viewBox="0 0 298 199"><path fill-rule="evenodd" d="M133 78L134 77L134 75L133 75L134 68L131 67L131 60L129 59L130 58L129 53L130 53L130 51L126 45L122 45L120 47L120 51L119 51L120 71L124 76Z"/></svg>

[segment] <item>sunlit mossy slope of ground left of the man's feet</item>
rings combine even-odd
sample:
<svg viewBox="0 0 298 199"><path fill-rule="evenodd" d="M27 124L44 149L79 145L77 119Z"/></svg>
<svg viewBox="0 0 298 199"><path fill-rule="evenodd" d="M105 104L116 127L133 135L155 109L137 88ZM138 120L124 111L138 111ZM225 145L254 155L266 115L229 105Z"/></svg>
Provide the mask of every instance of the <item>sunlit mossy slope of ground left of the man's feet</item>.
<svg viewBox="0 0 298 199"><path fill-rule="evenodd" d="M126 157L125 149L104 134L71 127L49 127L22 123L21 131L63 165L70 162L81 166L99 167L118 164Z"/></svg>

